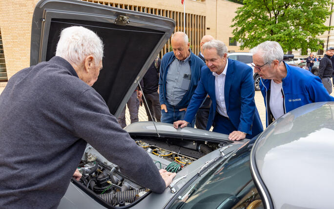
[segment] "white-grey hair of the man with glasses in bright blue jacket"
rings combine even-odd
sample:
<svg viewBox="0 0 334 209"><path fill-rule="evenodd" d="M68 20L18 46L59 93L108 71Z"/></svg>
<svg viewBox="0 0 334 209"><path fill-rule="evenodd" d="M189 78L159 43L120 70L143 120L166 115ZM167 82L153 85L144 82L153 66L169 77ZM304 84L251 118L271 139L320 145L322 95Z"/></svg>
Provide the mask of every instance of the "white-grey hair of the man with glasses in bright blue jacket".
<svg viewBox="0 0 334 209"><path fill-rule="evenodd" d="M250 49L250 53L260 53L260 57L264 63L272 63L274 60L278 60L279 63L283 61L283 49L278 42L266 41L262 42L254 48Z"/></svg>

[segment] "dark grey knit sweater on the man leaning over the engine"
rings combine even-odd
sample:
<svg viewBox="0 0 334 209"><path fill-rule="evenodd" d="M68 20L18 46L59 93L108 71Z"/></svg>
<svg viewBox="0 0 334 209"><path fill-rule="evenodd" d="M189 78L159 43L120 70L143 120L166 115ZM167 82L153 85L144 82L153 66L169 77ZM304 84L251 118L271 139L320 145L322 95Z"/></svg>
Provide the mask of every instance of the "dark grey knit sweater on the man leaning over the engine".
<svg viewBox="0 0 334 209"><path fill-rule="evenodd" d="M87 143L138 184L165 190L146 151L67 61L19 71L0 95L0 208L56 208Z"/></svg>

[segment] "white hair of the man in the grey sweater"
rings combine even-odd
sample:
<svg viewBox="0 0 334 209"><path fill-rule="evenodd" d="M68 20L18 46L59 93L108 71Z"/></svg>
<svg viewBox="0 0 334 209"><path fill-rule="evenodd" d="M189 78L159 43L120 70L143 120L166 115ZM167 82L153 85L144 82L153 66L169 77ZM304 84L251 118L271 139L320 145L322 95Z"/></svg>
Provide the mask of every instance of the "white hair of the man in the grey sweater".
<svg viewBox="0 0 334 209"><path fill-rule="evenodd" d="M88 55L95 58L95 64L102 62L103 42L101 38L82 26L63 29L57 44L56 56L62 57L69 63L80 65Z"/></svg>

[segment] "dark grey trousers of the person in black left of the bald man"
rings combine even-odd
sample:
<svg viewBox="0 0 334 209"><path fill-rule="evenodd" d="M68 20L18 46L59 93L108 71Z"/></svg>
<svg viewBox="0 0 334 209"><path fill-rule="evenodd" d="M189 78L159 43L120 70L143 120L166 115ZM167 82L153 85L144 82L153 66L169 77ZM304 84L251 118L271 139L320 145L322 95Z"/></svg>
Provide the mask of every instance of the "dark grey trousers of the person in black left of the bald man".
<svg viewBox="0 0 334 209"><path fill-rule="evenodd" d="M148 107L147 107L147 105L144 101L144 97L142 97L143 102L144 102L144 106L145 106L145 109L146 109L146 114L147 114L148 121L152 121L152 118L151 118L151 116L149 115L149 112L148 112L148 108L149 108L149 111L151 111L152 117L155 119L154 121L160 122L161 107L160 107L160 102L159 102L158 91L155 91L155 92L152 92L152 93L146 93L145 98L146 98L146 102L147 102Z"/></svg>

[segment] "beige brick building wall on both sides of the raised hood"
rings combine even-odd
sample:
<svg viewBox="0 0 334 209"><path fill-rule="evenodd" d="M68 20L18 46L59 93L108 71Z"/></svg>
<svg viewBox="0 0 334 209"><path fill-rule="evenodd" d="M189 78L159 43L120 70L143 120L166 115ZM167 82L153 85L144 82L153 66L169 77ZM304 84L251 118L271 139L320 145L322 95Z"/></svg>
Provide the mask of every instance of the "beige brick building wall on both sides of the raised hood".
<svg viewBox="0 0 334 209"><path fill-rule="evenodd" d="M177 23L175 31L184 29L184 7L181 0L84 1L117 5L121 8L123 6L131 10L135 10L135 7L146 8L146 12L167 17L174 14L174 20ZM30 64L31 21L37 2L38 0L0 0L0 31L8 79ZM231 20L238 6L240 4L227 0L186 0L186 33L189 38L191 37L190 43L195 54L198 54L200 40L206 34L225 42L229 50L241 51L238 46L229 46L229 38L232 37ZM193 27L196 29L193 30ZM162 54L168 52L169 46L170 42L167 42ZM5 86L6 83L0 82L0 87Z"/></svg>

